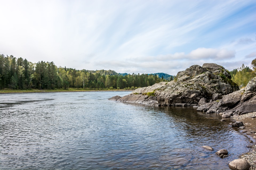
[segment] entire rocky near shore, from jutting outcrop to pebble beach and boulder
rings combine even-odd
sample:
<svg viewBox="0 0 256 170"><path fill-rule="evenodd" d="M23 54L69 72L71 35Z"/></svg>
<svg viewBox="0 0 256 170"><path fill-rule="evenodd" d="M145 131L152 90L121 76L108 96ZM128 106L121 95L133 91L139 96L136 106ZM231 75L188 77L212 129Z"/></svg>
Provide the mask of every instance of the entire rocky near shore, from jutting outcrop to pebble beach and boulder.
<svg viewBox="0 0 256 170"><path fill-rule="evenodd" d="M256 120L256 77L241 90L230 78L229 71L217 64L205 63L202 67L193 65L178 72L175 81L138 88L129 95L114 96L109 100L198 107L197 111L222 115L222 121L230 117L231 120L243 121L244 125L242 122L235 122L232 126L247 133L253 143L256 141L256 121L253 121ZM256 169L256 145L248 147L251 151L241 155L242 159L230 162L230 168Z"/></svg>

